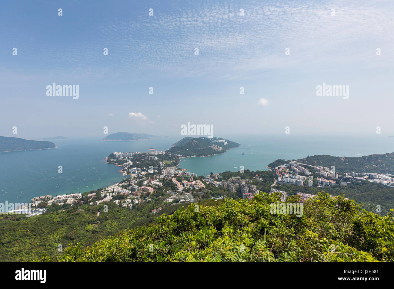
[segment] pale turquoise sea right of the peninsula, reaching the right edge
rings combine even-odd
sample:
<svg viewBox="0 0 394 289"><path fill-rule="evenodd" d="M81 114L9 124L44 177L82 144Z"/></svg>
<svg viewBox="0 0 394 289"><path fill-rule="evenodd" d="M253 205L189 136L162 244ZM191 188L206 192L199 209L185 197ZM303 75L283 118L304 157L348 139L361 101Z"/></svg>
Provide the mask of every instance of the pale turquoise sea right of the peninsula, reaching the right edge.
<svg viewBox="0 0 394 289"><path fill-rule="evenodd" d="M308 155L357 157L394 151L394 137L379 134L366 136L234 135L226 136L226 138L238 142L241 144L240 147L229 149L222 155L182 158L180 167L197 175L208 175L211 171L214 173L239 171L240 166L243 166L245 170L264 170L269 163L279 158L297 159Z"/></svg>

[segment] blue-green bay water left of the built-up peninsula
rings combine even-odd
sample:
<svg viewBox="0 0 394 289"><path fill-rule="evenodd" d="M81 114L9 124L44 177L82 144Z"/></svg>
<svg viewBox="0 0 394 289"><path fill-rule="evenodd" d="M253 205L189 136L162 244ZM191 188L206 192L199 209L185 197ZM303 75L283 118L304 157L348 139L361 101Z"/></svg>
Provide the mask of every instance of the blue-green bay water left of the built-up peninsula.
<svg viewBox="0 0 394 289"><path fill-rule="evenodd" d="M177 140L54 140L56 149L0 153L0 202L29 202L32 197L83 193L116 184L122 179L122 167L106 163L110 153L147 152L150 147L165 150ZM63 173L58 173L58 166Z"/></svg>

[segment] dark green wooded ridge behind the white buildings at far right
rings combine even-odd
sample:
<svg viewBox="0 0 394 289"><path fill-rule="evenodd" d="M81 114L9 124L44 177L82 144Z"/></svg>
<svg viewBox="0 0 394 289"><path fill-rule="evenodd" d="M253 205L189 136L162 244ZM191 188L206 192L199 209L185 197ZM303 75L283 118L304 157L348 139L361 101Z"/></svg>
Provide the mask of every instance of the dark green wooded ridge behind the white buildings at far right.
<svg viewBox="0 0 394 289"><path fill-rule="evenodd" d="M368 155L368 156L329 156L315 155L307 156L297 160L298 162L313 166L325 166L331 168L335 166L338 173L345 172L374 172L374 173L394 173L394 153L386 153L384 155ZM284 164L285 160L275 160L268 164L268 168L275 168Z"/></svg>

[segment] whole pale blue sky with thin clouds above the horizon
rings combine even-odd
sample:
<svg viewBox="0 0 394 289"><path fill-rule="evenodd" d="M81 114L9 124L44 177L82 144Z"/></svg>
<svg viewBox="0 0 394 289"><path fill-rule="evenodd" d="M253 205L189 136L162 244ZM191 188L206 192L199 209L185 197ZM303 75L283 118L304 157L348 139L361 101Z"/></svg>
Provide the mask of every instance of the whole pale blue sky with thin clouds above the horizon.
<svg viewBox="0 0 394 289"><path fill-rule="evenodd" d="M392 1L185 2L3 3L0 135L394 134ZM46 96L54 82L79 98Z"/></svg>

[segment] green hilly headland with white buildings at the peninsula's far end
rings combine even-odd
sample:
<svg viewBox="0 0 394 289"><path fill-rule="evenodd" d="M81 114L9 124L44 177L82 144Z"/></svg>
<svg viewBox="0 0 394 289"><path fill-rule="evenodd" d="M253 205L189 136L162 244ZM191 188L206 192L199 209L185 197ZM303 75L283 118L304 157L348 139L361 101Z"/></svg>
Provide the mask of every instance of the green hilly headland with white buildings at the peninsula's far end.
<svg viewBox="0 0 394 289"><path fill-rule="evenodd" d="M228 149L239 146L240 144L223 138L192 138L186 136L165 152L180 156L210 156L225 153Z"/></svg>

